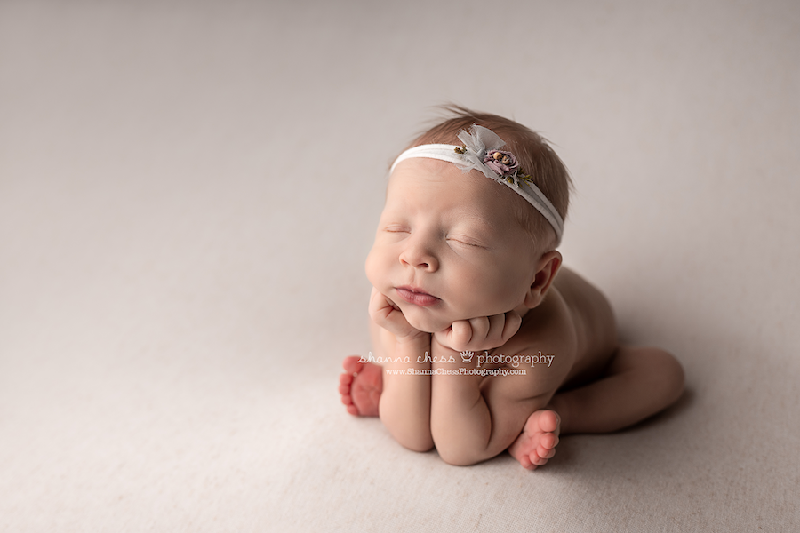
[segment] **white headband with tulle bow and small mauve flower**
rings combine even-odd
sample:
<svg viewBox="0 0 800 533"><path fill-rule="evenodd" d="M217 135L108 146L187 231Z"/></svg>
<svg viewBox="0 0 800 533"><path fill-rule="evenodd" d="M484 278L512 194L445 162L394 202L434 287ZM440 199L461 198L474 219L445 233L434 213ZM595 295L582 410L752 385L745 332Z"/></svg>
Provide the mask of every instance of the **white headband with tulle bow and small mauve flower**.
<svg viewBox="0 0 800 533"><path fill-rule="evenodd" d="M464 146L430 144L409 148L397 156L389 173L395 171L397 163L412 157L426 157L453 163L464 172L481 171L484 176L508 186L535 207L556 230L556 244L560 243L561 235L564 233L564 220L547 196L536 187L531 176L520 170L516 157L511 152L500 150L506 146L503 139L500 139L494 131L475 124L469 128L469 133L459 131L459 139Z"/></svg>

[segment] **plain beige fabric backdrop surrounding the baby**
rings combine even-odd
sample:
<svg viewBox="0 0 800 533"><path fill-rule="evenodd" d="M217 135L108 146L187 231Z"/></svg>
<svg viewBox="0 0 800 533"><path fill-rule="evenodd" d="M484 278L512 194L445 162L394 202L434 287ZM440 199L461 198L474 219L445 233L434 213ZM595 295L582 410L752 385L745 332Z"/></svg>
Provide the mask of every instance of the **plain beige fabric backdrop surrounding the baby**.
<svg viewBox="0 0 800 533"><path fill-rule="evenodd" d="M445 101L556 145L566 263L675 408L534 473L346 414ZM0 2L0 530L796 527L798 124L794 0Z"/></svg>

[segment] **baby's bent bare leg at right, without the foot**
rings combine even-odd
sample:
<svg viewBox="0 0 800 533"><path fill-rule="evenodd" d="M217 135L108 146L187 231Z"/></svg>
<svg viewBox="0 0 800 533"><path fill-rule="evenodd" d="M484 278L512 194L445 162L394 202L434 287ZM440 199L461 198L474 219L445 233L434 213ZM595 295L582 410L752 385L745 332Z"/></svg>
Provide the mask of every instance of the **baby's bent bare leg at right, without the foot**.
<svg viewBox="0 0 800 533"><path fill-rule="evenodd" d="M560 416L563 434L608 433L666 409L683 391L684 370L671 354L620 346L603 377L556 394L548 409Z"/></svg>

